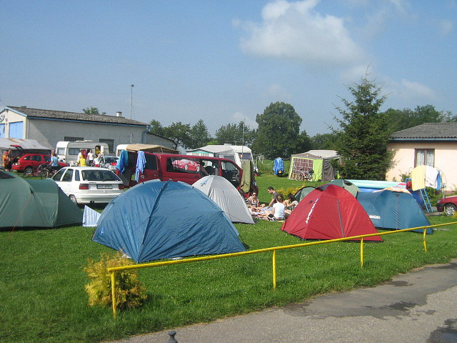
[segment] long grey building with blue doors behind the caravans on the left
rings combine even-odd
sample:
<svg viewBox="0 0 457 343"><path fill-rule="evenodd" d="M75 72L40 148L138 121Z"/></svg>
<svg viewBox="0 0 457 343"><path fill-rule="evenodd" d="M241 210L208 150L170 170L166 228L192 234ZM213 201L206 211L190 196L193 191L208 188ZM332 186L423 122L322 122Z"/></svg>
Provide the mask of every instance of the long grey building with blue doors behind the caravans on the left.
<svg viewBox="0 0 457 343"><path fill-rule="evenodd" d="M94 115L26 106L7 106L0 111L0 138L35 139L51 149L58 141L90 139L108 144L114 153L118 144L158 144L169 148L174 142L151 134L149 125L141 121L116 116Z"/></svg>

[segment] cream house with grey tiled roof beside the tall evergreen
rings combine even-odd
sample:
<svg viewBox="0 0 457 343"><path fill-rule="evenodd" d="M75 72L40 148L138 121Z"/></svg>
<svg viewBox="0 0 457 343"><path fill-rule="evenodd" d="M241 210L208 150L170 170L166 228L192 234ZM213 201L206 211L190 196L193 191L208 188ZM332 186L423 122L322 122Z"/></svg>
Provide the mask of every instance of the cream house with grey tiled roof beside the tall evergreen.
<svg viewBox="0 0 457 343"><path fill-rule="evenodd" d="M402 174L425 164L441 171L446 192L457 189L457 123L421 124L394 132L387 149L393 153L387 180L400 181Z"/></svg>

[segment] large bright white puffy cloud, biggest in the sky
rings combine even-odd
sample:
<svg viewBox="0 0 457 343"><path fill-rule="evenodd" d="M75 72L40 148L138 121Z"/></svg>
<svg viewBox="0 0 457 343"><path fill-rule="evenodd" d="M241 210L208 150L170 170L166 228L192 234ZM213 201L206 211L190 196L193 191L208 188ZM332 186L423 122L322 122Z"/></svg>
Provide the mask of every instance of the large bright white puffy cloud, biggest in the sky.
<svg viewBox="0 0 457 343"><path fill-rule="evenodd" d="M261 23L246 22L241 48L248 54L315 66L347 66L364 55L341 18L314 10L317 0L277 0L263 7Z"/></svg>

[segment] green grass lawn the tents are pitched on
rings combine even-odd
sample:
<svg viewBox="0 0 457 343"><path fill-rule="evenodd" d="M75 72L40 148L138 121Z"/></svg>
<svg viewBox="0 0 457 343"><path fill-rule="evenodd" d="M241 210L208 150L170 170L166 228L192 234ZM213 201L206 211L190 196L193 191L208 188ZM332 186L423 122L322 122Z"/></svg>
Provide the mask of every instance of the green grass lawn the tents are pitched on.
<svg viewBox="0 0 457 343"><path fill-rule="evenodd" d="M266 187L299 182L263 174ZM432 224L455 219L433 217ZM281 232L280 223L236 224L250 249L303 242ZM119 312L89 307L83 268L111 249L91 242L94 229L64 227L0 232L0 342L101 342L302 301L316 294L370 287L425 264L457 257L457 226L428 235L383 236L382 243L354 242L288 249L276 254L277 288L272 289L271 252L169 267L140 269L149 300L141 309Z"/></svg>

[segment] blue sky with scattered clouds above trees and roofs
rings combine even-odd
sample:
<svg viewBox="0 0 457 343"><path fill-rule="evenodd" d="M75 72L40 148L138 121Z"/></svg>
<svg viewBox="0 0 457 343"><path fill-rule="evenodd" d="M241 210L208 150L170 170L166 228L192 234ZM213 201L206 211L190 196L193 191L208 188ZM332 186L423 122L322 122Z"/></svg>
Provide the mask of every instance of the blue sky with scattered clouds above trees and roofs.
<svg viewBox="0 0 457 343"><path fill-rule="evenodd" d="M367 76L383 110L457 114L457 0L0 0L0 11L0 109L203 119L214 135L255 129L283 101L314 136L337 127L335 107Z"/></svg>

